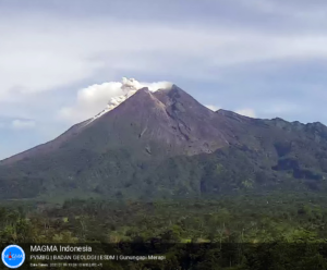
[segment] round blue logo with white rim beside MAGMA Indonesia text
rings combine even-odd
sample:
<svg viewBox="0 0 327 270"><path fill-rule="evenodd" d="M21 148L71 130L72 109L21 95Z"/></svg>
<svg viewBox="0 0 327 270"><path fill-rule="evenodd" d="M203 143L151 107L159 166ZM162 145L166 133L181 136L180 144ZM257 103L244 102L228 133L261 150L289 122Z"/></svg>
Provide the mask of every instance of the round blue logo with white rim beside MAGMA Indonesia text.
<svg viewBox="0 0 327 270"><path fill-rule="evenodd" d="M4 266L14 269L24 263L25 253L23 248L17 245L10 245L3 249L1 258Z"/></svg>

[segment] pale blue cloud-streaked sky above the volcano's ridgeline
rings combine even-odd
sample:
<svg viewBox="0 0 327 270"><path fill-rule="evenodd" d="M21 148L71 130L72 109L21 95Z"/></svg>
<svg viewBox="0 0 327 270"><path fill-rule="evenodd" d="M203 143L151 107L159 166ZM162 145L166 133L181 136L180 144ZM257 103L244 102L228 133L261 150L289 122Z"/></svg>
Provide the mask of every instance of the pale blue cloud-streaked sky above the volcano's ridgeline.
<svg viewBox="0 0 327 270"><path fill-rule="evenodd" d="M0 0L0 159L100 112L122 77L327 124L326 60L325 0Z"/></svg>

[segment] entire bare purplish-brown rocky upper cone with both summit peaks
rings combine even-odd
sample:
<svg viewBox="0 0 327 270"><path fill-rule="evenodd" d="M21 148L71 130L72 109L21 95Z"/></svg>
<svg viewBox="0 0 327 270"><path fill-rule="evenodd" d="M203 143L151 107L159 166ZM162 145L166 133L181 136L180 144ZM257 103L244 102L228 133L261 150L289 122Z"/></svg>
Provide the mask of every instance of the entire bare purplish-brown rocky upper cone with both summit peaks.
<svg viewBox="0 0 327 270"><path fill-rule="evenodd" d="M177 86L156 93L140 89L87 128L95 126L102 126L125 146L153 145L166 157L213 152L228 145L217 114Z"/></svg>

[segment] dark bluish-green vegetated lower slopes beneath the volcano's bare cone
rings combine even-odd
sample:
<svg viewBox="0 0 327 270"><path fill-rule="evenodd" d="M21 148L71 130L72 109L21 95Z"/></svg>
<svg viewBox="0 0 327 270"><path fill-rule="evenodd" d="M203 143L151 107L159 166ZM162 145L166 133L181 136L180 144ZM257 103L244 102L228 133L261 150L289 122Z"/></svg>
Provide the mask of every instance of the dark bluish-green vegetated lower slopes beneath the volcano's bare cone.
<svg viewBox="0 0 327 270"><path fill-rule="evenodd" d="M0 177L0 189L2 198L55 197L58 200L92 196L117 199L184 198L294 188L299 192L327 192L327 158L322 156L325 149L316 152L314 146L311 148L313 150L306 151L296 142L291 146L276 144L271 150L240 145L209 155L177 156L162 161L137 161L133 159L133 154L123 149L101 156L81 150L59 156L58 159L64 161L60 163L53 162L56 155L39 159L29 169L31 162L25 164L21 161L7 171L5 177ZM74 159L72 156L81 158ZM68 164L74 171L69 177L63 175ZM33 171L37 176L28 173L13 176L21 173L20 170Z"/></svg>

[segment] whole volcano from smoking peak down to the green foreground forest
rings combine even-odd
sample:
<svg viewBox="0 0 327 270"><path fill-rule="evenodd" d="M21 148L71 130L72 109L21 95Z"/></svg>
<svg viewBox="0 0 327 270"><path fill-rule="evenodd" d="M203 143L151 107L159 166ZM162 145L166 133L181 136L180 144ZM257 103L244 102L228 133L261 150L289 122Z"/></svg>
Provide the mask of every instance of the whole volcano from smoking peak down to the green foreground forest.
<svg viewBox="0 0 327 270"><path fill-rule="evenodd" d="M0 198L324 189L326 126L214 112L175 85L123 86L95 118L1 161Z"/></svg>

